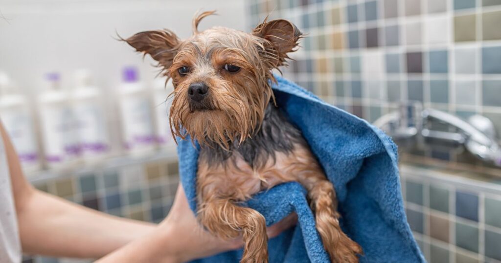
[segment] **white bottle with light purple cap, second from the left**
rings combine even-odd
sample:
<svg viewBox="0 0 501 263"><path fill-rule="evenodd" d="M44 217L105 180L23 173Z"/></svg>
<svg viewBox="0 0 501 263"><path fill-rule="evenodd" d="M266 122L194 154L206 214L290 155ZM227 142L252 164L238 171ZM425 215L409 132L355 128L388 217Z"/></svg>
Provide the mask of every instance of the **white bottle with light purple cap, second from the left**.
<svg viewBox="0 0 501 263"><path fill-rule="evenodd" d="M45 86L38 98L45 161L49 167L67 166L80 155L78 125L59 74L47 74Z"/></svg>

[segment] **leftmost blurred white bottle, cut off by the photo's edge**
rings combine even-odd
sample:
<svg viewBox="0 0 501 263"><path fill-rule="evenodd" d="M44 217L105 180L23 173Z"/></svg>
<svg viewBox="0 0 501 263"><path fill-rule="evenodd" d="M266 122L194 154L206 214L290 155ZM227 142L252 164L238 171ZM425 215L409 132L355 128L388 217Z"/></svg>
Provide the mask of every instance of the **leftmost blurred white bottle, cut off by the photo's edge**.
<svg viewBox="0 0 501 263"><path fill-rule="evenodd" d="M0 118L25 171L40 169L37 140L25 96L18 93L6 73L0 72Z"/></svg>

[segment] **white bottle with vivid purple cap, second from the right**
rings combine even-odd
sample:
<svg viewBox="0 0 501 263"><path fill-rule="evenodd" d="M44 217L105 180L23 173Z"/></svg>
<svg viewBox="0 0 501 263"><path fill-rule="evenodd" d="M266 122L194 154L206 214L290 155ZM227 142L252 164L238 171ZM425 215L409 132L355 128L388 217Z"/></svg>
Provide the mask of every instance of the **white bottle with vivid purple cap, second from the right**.
<svg viewBox="0 0 501 263"><path fill-rule="evenodd" d="M155 146L148 90L136 68L126 67L119 87L123 143L129 153L145 153Z"/></svg>

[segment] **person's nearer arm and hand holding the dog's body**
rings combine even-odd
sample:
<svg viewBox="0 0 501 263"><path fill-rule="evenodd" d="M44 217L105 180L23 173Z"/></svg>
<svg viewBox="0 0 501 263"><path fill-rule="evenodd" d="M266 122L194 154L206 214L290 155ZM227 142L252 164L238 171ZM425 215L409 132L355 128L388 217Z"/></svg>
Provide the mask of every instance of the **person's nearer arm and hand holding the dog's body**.
<svg viewBox="0 0 501 263"><path fill-rule="evenodd" d="M270 238L295 225L297 215L290 214L267 228ZM96 261L96 263L186 262L242 246L241 238L222 240L210 235L196 220L189 208L183 188L179 184L176 197L167 218L158 231L130 242L126 246Z"/></svg>

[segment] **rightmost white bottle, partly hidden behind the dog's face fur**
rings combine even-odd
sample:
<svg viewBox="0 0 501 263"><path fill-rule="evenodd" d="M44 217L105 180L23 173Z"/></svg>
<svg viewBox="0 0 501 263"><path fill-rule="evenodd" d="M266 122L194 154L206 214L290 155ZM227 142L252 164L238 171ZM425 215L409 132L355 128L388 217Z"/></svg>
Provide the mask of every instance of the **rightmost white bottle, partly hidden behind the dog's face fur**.
<svg viewBox="0 0 501 263"><path fill-rule="evenodd" d="M155 79L152 86L155 113L155 139L160 148L174 151L176 143L172 137L169 125L169 110L172 105L172 98L168 98L174 91L174 86L172 86L171 81L166 85L163 78Z"/></svg>

